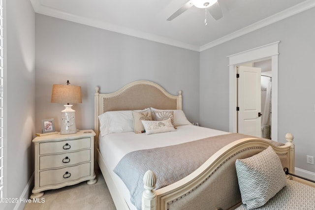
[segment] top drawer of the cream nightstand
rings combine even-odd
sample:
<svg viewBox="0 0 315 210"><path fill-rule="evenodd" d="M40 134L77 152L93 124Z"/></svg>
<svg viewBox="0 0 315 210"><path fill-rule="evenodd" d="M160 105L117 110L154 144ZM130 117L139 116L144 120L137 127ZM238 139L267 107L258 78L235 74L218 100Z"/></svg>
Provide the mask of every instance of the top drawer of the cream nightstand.
<svg viewBox="0 0 315 210"><path fill-rule="evenodd" d="M39 154L69 152L91 147L91 138L39 143Z"/></svg>

